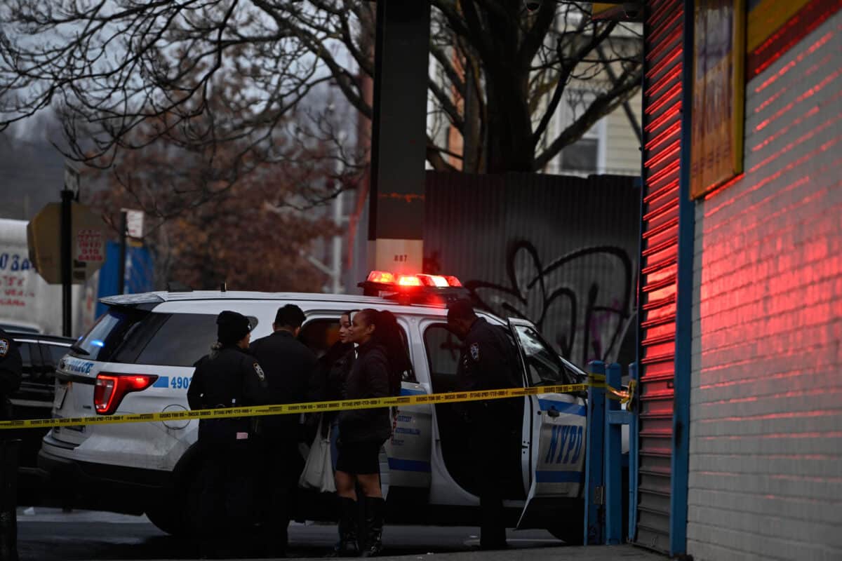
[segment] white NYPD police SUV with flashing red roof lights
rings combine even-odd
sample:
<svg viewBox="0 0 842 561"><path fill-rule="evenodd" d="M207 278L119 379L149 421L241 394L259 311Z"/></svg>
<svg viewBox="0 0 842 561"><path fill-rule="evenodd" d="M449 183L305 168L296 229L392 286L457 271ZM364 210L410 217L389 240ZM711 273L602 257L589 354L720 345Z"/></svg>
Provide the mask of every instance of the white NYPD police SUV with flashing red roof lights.
<svg viewBox="0 0 842 561"><path fill-rule="evenodd" d="M378 295L195 291L103 299L108 312L59 363L53 416L187 410L193 364L216 340L216 315L236 310L248 316L255 340L269 335L284 304L304 310L300 338L317 354L337 340L343 312L392 311L413 362L402 394L453 391L460 342L446 328L444 302L446 294L464 290L454 288L458 280L375 272L364 284L367 294ZM509 331L520 349L525 386L584 381L584 373L559 357L534 325L478 313ZM523 398L520 439L500 444L510 455L501 482L509 527L543 527L567 542L582 541L585 417L584 394ZM198 421L185 420L56 427L44 437L39 465L77 491L78 506L146 512L157 527L179 534L197 508L197 430ZM392 438L381 451L390 523L477 523L469 438L453 404L395 412ZM298 501L296 517L335 519L331 496L312 495Z"/></svg>

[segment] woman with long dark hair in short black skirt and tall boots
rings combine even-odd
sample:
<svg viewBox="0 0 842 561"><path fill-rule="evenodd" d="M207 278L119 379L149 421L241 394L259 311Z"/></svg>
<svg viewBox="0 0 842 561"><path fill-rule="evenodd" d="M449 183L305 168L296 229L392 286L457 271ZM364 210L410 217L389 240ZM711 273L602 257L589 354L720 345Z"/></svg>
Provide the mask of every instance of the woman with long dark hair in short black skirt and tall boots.
<svg viewBox="0 0 842 561"><path fill-rule="evenodd" d="M357 358L345 383L345 400L386 397L391 378L386 347L378 341L376 310L360 310L351 320L349 341L359 345ZM363 492L365 528L364 557L381 552L381 532L386 502L380 488L380 448L392 435L392 422L386 408L344 410L339 413L336 492L340 501L339 542L334 553L340 556L358 552L357 494Z"/></svg>

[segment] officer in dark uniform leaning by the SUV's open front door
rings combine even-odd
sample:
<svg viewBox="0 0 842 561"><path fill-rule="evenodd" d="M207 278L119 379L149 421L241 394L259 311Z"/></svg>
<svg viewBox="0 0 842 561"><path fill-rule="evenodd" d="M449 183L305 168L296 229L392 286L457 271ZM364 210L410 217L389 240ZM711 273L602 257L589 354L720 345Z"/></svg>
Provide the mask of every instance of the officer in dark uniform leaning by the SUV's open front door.
<svg viewBox="0 0 842 561"><path fill-rule="evenodd" d="M517 350L502 328L478 318L464 300L448 306L447 325L462 341L456 372L458 391L523 387ZM480 548L505 548L504 474L512 456L509 447L520 447L516 432L523 414L522 402L519 398L469 401L462 411L469 435L467 444L476 462L473 469L482 516Z"/></svg>

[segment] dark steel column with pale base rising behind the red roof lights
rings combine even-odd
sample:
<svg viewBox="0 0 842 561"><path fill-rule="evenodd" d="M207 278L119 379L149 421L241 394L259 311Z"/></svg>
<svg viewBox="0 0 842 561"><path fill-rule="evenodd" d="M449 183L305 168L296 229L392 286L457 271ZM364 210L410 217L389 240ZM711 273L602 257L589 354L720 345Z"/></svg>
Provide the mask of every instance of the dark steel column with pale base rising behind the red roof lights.
<svg viewBox="0 0 842 561"><path fill-rule="evenodd" d="M420 273L429 80L429 2L377 2L369 193L370 269Z"/></svg>

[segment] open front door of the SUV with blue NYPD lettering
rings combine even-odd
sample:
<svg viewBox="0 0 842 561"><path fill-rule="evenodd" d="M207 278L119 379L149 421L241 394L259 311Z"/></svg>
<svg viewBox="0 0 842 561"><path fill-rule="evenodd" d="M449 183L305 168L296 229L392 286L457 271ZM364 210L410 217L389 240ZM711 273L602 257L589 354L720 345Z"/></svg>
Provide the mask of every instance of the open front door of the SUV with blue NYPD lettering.
<svg viewBox="0 0 842 561"><path fill-rule="evenodd" d="M509 328L524 363L528 386L579 383L578 373L544 341L535 325L509 319ZM560 521L558 510L570 510L582 496L586 402L578 393L535 394L527 400L525 417L530 421L525 419L523 430L530 450L523 469L529 493L518 528L547 527L554 534L564 534L547 526L546 520ZM550 513L552 516L547 516ZM581 512L570 514L572 523L581 521Z"/></svg>

